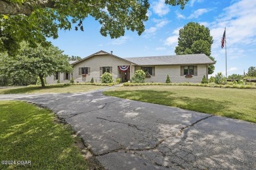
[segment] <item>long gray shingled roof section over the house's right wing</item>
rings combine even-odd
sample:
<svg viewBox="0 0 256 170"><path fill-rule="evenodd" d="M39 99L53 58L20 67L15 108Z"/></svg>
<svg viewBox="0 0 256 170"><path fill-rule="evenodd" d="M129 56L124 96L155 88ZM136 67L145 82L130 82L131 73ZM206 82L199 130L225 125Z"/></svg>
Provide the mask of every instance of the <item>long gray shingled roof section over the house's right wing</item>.
<svg viewBox="0 0 256 170"><path fill-rule="evenodd" d="M152 56L139 58L124 58L137 65L187 65L214 63L205 54L186 54L177 56Z"/></svg>

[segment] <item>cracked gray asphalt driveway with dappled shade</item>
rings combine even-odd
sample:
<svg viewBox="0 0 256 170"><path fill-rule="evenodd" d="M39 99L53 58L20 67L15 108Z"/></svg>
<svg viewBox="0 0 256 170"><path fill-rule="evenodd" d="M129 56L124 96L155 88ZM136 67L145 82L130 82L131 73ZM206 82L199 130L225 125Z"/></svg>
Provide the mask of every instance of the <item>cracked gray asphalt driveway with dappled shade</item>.
<svg viewBox="0 0 256 170"><path fill-rule="evenodd" d="M256 124L102 91L0 95L0 100L53 110L105 169L256 169Z"/></svg>

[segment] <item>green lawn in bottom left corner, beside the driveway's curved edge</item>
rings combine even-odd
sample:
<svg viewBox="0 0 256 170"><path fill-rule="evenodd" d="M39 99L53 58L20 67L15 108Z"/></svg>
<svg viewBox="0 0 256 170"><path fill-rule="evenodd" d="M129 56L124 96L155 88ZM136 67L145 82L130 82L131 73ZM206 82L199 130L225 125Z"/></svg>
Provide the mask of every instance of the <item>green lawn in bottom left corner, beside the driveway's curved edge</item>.
<svg viewBox="0 0 256 170"><path fill-rule="evenodd" d="M23 101L0 101L0 169L88 169L69 126L54 122L50 110ZM17 165L31 161L31 165ZM14 163L14 162L12 162ZM28 163L28 162L27 162Z"/></svg>

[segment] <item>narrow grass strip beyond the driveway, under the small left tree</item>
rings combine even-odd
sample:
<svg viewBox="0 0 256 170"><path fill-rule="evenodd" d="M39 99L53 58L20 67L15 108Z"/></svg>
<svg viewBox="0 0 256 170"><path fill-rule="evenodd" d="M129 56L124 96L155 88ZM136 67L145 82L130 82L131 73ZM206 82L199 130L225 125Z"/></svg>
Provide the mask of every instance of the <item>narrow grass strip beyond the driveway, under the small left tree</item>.
<svg viewBox="0 0 256 170"><path fill-rule="evenodd" d="M0 94L11 94L11 93L77 93L77 92L88 92L91 90L98 90L105 88L104 86L94 85L60 85L60 86L40 86L35 87L23 87L23 88L5 88L0 89Z"/></svg>

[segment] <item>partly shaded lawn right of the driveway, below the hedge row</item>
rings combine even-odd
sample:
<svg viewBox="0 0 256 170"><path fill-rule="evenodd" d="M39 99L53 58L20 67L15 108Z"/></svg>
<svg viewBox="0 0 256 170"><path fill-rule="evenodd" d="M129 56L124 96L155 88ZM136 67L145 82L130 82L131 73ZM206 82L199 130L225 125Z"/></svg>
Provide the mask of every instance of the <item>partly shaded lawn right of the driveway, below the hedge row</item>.
<svg viewBox="0 0 256 170"><path fill-rule="evenodd" d="M256 123L255 89L129 86L114 88L104 94Z"/></svg>

